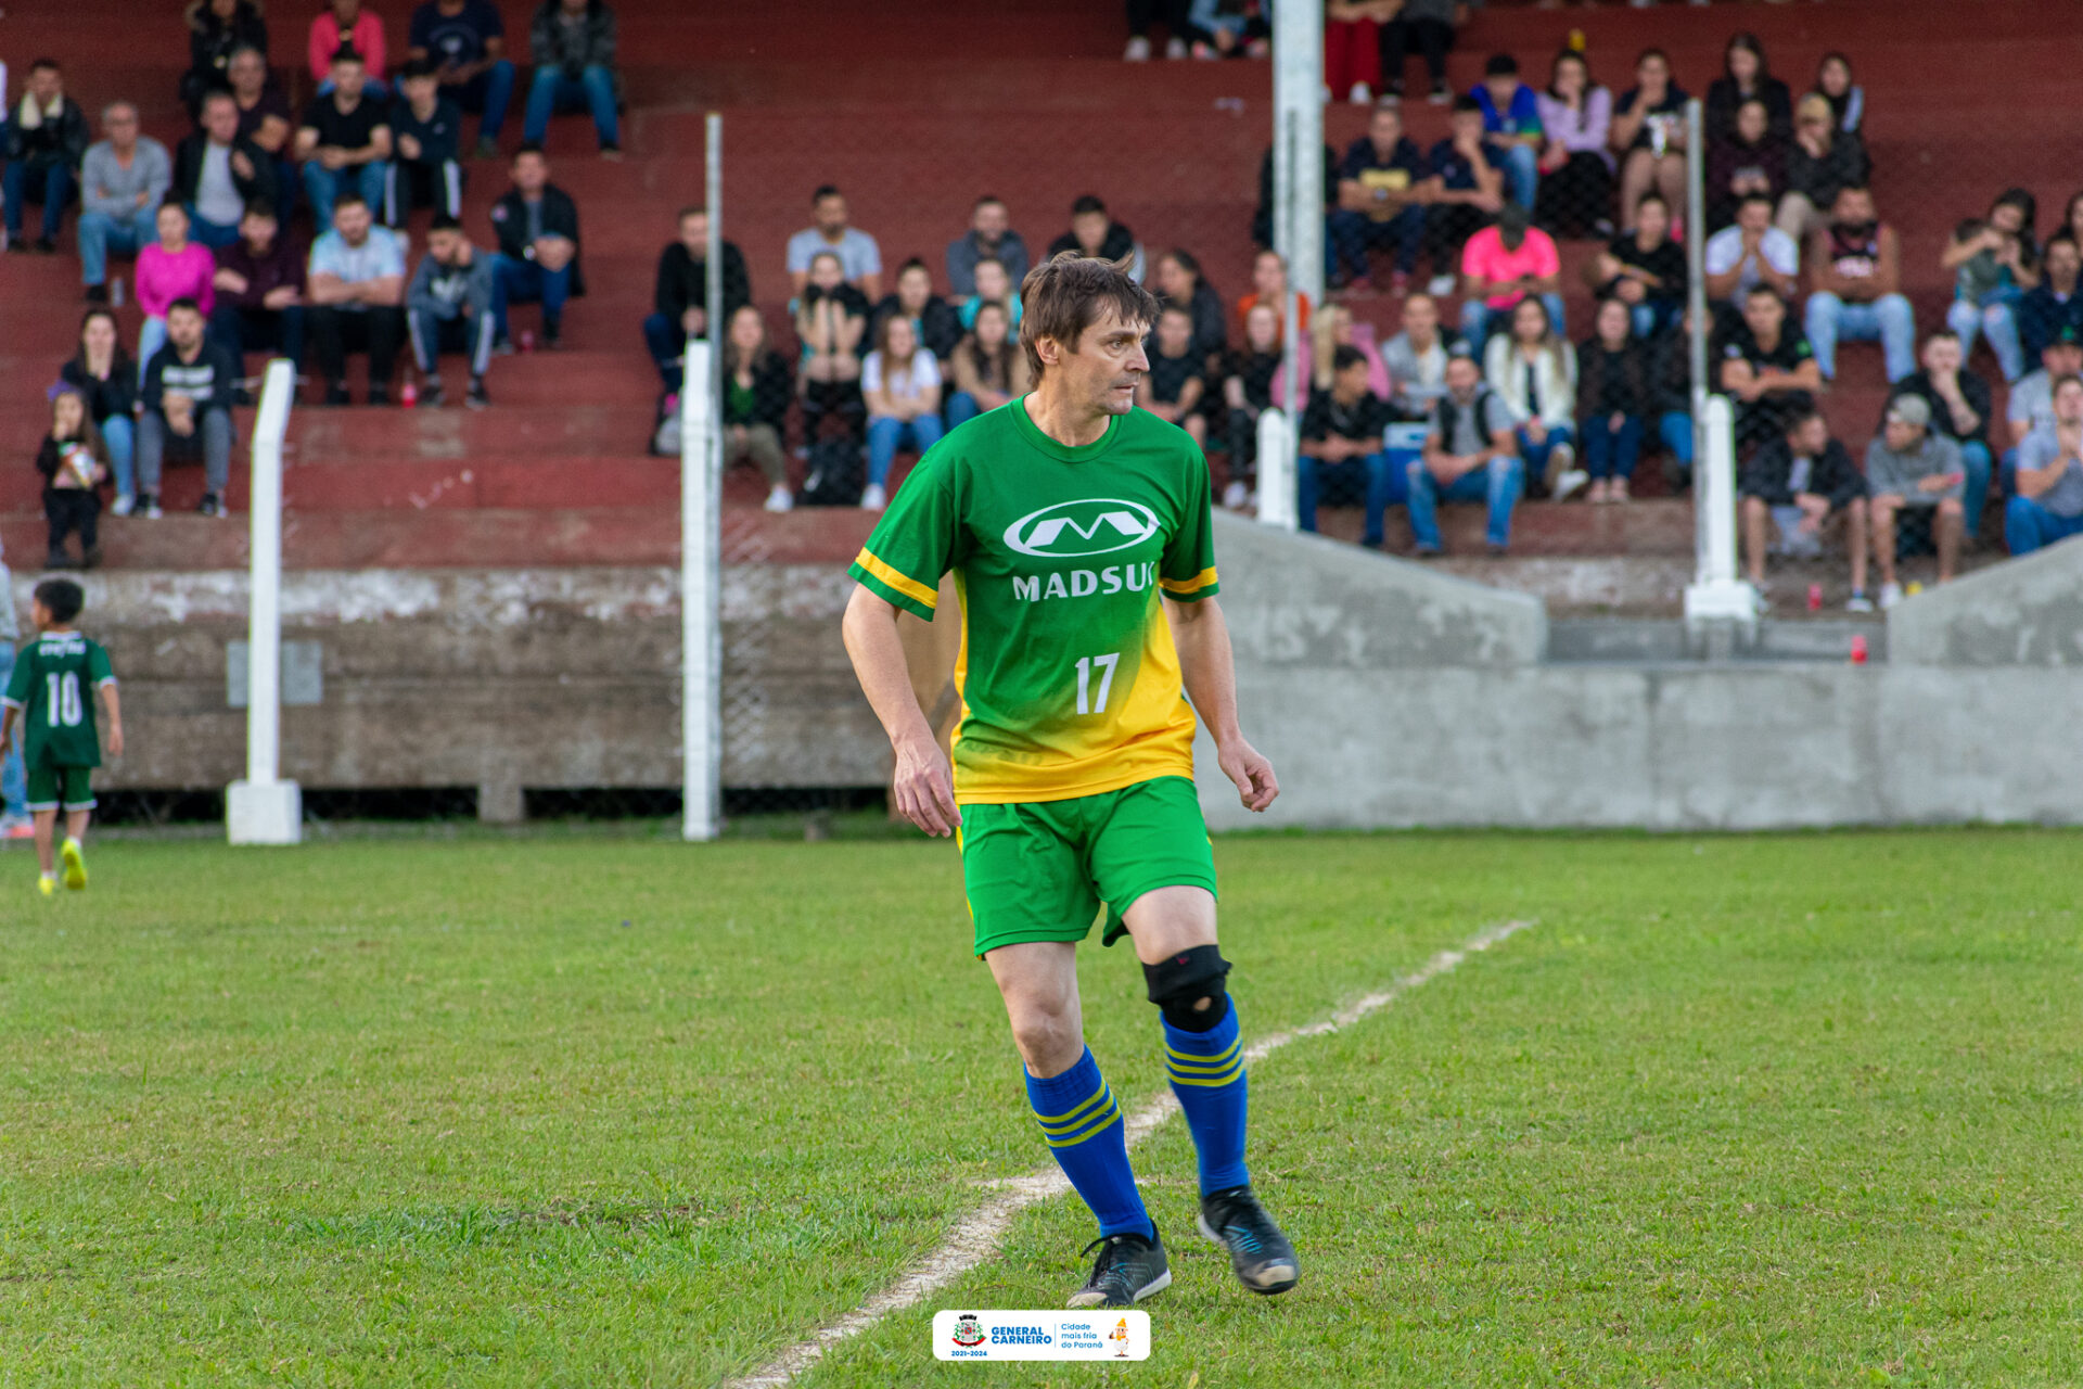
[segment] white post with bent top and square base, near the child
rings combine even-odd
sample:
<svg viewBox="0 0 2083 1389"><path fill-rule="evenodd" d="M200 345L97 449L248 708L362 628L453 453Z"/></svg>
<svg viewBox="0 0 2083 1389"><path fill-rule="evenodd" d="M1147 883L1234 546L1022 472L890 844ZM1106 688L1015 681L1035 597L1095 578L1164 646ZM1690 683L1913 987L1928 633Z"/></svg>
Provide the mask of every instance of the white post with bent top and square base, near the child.
<svg viewBox="0 0 2083 1389"><path fill-rule="evenodd" d="M281 439L290 431L296 367L267 364L254 421L252 581L246 639L246 781L225 789L231 843L298 843L304 795L281 779Z"/></svg>

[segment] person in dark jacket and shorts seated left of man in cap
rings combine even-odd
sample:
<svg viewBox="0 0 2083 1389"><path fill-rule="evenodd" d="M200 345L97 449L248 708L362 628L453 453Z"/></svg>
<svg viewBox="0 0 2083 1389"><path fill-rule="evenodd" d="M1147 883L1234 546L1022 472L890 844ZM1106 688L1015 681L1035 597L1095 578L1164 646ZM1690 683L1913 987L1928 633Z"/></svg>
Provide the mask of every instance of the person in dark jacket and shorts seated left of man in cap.
<svg viewBox="0 0 2083 1389"><path fill-rule="evenodd" d="M1743 562L1750 583L1764 591L1764 556L1771 529L1777 550L1812 560L1823 554L1823 537L1841 529L1852 550L1852 612L1873 612L1866 598L1866 479L1858 475L1843 444L1829 425L1804 406L1785 416L1785 429L1750 456L1737 481L1743 516Z"/></svg>

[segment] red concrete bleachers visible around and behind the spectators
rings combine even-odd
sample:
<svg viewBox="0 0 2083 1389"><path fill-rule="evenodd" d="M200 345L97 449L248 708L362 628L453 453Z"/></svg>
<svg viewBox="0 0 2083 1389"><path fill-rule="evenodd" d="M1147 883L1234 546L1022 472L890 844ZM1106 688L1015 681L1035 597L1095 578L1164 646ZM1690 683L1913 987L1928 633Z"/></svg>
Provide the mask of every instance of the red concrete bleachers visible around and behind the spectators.
<svg viewBox="0 0 2083 1389"><path fill-rule="evenodd" d="M375 8L404 46L406 0ZM752 267L760 304L781 325L785 235L806 223L808 192L835 181L854 221L881 239L889 271L939 252L979 192L1012 204L1037 250L1062 231L1069 202L1102 194L1154 252L1189 246L1233 298L1248 281L1248 223L1269 142L1271 75L1256 62L1119 60L1116 0L1014 6L1004 0L906 0L762 6L621 0L631 110L629 158L592 152L583 117L550 133L554 177L581 204L592 296L567 314L567 350L500 358L485 414L446 410L323 410L294 414L290 437L287 562L335 564L658 564L677 554L677 469L644 452L656 375L637 337L650 306L658 248L673 210L700 198L702 115L725 112L725 227ZM277 6L277 67L302 52L310 6ZM531 4L504 0L508 31L527 31ZM1868 92L1868 146L1883 214L1904 231L1918 325L1939 321L1950 279L1937 269L1946 231L2008 183L2041 200L2041 231L2075 183L2066 137L2068 83L2079 40L2056 6L1983 0L1962 21L1952 0L1823 0L1712 8L1487 8L1454 58L1473 81L1481 58L1510 48L1529 69L1571 27L1589 37L1596 73L1629 81L1643 44L1671 50L1681 81L1704 92L1737 27L1756 29L1775 69L1798 87L1829 48L1852 54ZM519 40L525 46L525 40ZM177 10L140 17L127 0L17 0L0 23L0 54L17 73L58 56L73 94L96 110L125 96L169 144L185 121L175 81L185 65ZM523 83L525 85L525 83ZM1446 117L1410 106L1414 137L1444 135ZM1364 123L1346 104L1327 135L1344 146ZM519 108L506 146L519 140ZM471 165L467 221L490 242L485 208L504 187L502 165ZM71 229L71 221L67 223ZM1568 246L1573 327L1589 300L1575 277L1589 244ZM887 277L885 277L887 279ZM1394 302L1358 310L1389 329ZM0 535L21 560L40 556L37 479L29 466L44 429L42 387L69 352L81 312L77 260L0 258ZM517 323L533 323L519 308ZM135 310L125 310L135 335ZM1993 362L1977 360L1985 375ZM356 383L358 389L358 383ZM1827 406L1848 439L1864 439L1881 408L1877 346L1846 346ZM235 469L240 471L240 469ZM844 558L856 514L756 510L760 485L739 469L727 500L733 535L758 552ZM198 569L237 564L244 527L173 508L200 494L196 469L169 477L165 521L106 521L112 564ZM244 483L233 506L244 504ZM1469 521L1471 516L1458 516ZM1683 502L1643 502L1627 514L1585 506L1529 506L1521 554L1681 552ZM1473 548L1477 533L1464 537ZM1450 533L1450 544L1454 535Z"/></svg>

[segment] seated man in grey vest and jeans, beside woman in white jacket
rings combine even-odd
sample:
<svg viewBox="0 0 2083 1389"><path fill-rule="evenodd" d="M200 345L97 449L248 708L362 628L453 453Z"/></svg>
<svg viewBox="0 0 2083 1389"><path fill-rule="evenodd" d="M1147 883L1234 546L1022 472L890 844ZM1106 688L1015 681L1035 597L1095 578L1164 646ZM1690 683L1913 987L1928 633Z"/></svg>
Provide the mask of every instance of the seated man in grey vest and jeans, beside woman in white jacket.
<svg viewBox="0 0 2083 1389"><path fill-rule="evenodd" d="M1419 558L1441 550L1441 502L1487 502L1489 552L1504 554L1512 544L1512 508L1525 491L1527 464L1519 458L1510 406L1483 383L1483 371L1460 344L1448 354L1446 394L1433 406L1425 456L1406 479Z"/></svg>

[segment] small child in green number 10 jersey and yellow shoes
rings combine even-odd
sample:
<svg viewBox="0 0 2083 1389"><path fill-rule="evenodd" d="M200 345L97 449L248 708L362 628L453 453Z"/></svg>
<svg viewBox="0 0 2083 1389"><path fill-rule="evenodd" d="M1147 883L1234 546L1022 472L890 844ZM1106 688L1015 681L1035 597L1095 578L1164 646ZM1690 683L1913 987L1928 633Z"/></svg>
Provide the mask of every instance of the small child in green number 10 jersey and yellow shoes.
<svg viewBox="0 0 2083 1389"><path fill-rule="evenodd" d="M108 652L73 627L85 606L85 594L71 579L44 579L35 585L29 616L37 639L6 683L0 700L0 758L15 743L15 718L23 723L23 743L29 762L29 812L35 816L35 864L42 868L37 891L46 898L58 891L56 858L65 858L65 885L87 885L87 862L79 854L79 837L87 833L94 791L87 785L102 764L102 743L94 733L94 708L87 689L102 696L108 712L108 754L123 756L123 704L117 700L117 675ZM58 808L65 808L65 848L54 856Z"/></svg>

